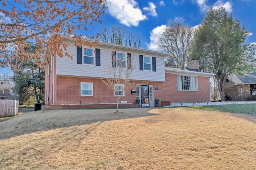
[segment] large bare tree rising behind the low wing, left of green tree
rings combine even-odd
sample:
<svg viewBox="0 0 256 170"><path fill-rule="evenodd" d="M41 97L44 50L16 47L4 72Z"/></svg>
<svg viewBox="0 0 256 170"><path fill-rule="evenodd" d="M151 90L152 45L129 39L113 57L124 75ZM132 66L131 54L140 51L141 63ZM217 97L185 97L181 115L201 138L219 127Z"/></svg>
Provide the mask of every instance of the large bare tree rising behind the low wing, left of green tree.
<svg viewBox="0 0 256 170"><path fill-rule="evenodd" d="M167 58L166 66L185 68L188 60L189 45L193 39L195 30L181 23L170 22L162 36L159 38L158 47L171 56Z"/></svg>

